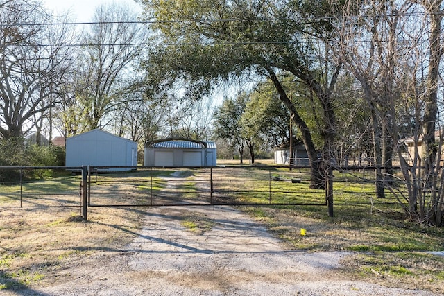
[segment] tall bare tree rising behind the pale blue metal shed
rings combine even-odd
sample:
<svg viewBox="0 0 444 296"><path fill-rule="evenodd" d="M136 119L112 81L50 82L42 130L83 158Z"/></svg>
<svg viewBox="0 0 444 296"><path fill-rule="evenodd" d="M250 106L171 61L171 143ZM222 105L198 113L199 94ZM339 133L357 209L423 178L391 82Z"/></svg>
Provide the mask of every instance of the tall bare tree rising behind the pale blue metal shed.
<svg viewBox="0 0 444 296"><path fill-rule="evenodd" d="M117 3L96 8L93 24L86 33L78 67L76 99L83 106L89 129L99 128L104 117L114 110L125 94L119 89L126 69L139 55L144 38L137 15L128 6Z"/></svg>

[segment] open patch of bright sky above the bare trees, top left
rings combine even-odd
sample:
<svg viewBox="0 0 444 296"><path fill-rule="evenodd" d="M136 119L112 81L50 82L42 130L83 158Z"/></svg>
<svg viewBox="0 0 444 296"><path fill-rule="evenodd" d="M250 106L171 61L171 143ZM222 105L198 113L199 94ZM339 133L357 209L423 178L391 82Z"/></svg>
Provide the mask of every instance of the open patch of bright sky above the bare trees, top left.
<svg viewBox="0 0 444 296"><path fill-rule="evenodd" d="M69 10L76 22L89 22L94 15L94 9L102 3L112 3L113 0L43 0L44 6L52 10L54 15L63 15ZM127 3L138 8L134 0L116 0L117 3Z"/></svg>

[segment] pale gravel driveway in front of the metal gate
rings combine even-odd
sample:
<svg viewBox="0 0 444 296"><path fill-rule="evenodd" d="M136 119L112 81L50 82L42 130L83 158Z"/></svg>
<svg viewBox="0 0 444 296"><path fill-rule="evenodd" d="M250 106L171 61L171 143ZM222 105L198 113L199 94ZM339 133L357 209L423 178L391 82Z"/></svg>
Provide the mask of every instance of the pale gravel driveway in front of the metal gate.
<svg viewBox="0 0 444 296"><path fill-rule="evenodd" d="M184 216L212 221L193 233ZM432 295L341 276L343 252L287 250L231 207L159 207L125 250L107 250L60 273L71 280L20 295Z"/></svg>

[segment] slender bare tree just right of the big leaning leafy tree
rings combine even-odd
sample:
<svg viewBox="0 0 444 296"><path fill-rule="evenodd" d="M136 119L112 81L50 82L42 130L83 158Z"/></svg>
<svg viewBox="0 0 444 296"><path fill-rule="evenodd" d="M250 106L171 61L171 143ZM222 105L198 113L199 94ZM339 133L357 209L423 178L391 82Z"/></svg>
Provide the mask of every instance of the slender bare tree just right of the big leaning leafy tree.
<svg viewBox="0 0 444 296"><path fill-rule="evenodd" d="M343 6L339 56L360 82L370 110L379 198L385 195L384 169L386 177L393 175L393 148L398 139L393 134L394 102L400 96L395 71L404 55L397 36L402 31L400 15L408 8L403 2L371 0L364 3L348 1L348 5Z"/></svg>

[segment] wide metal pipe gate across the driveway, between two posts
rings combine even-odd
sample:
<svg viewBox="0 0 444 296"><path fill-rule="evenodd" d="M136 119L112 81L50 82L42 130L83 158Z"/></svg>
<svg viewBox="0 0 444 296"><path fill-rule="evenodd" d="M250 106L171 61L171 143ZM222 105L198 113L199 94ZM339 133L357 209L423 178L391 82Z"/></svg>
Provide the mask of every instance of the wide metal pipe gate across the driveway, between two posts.
<svg viewBox="0 0 444 296"><path fill-rule="evenodd" d="M278 167L113 168L89 168L89 207L325 205L325 191L301 194L303 180L276 176Z"/></svg>

